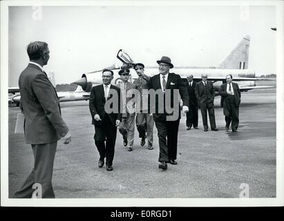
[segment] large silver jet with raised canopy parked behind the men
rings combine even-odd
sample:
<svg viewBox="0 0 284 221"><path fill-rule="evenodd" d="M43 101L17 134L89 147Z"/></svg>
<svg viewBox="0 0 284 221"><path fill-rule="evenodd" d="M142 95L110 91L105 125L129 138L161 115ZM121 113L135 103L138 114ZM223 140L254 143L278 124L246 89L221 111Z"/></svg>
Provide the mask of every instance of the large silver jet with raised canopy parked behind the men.
<svg viewBox="0 0 284 221"><path fill-rule="evenodd" d="M210 67L175 67L171 69L171 72L179 74L184 81L188 75L193 75L193 80L200 81L201 74L207 74L208 79L214 82L214 89L216 95L218 95L218 90L220 85L225 83L226 75L231 74L234 81L238 81L241 91L252 90L254 88L271 88L272 86L256 86L256 81L267 80L256 78L254 70L247 69L248 59L249 59L249 36L243 37L240 43L232 50L227 57L220 63L219 66ZM117 84L120 79L118 72L122 68L129 68L131 70L131 77L129 81L133 81L138 77L133 70L133 65L135 62L131 57L124 51L119 50L117 53L117 58L122 61L122 66L113 65L108 67L108 69L114 72L114 84ZM153 76L158 73L158 67L145 66L144 73L149 76ZM82 86L83 90L91 91L91 88L97 84L102 84L102 70L95 70L91 73L86 73L82 75L82 78L73 82Z"/></svg>

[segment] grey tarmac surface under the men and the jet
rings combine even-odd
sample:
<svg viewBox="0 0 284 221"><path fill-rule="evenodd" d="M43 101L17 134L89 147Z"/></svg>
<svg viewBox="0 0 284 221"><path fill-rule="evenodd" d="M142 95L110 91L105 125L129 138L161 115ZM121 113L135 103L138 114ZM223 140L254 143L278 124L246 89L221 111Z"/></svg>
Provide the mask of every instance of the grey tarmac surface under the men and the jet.
<svg viewBox="0 0 284 221"><path fill-rule="evenodd" d="M63 102L61 112L72 142L57 144L53 173L56 198L239 198L240 185L249 185L249 198L276 197L276 89L242 93L238 133L225 130L220 97L215 99L219 131L178 133L178 165L158 169L158 135L153 150L140 146L135 129L133 151L123 146L117 131L113 171L97 166L99 154L88 102ZM9 198L32 170L33 155L23 134L15 134L19 108L9 108Z"/></svg>

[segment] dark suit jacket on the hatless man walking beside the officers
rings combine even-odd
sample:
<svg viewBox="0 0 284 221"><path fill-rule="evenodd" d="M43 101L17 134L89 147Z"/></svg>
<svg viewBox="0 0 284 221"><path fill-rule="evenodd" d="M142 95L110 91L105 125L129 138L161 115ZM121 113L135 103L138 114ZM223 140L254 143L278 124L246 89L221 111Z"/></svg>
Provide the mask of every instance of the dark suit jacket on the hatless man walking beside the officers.
<svg viewBox="0 0 284 221"><path fill-rule="evenodd" d="M104 109L104 104L106 104L106 99L104 98L104 86L103 84L100 84L98 86L95 86L91 90L90 98L89 98L89 108L92 115L92 124L95 124L95 126L102 126L102 120L96 121L94 119L94 116L96 114L100 115L101 119L104 119L105 115L108 115L109 119L115 125L115 121L119 119L122 120L122 114L120 113L120 88L117 88L116 86L113 86L111 84L111 88L113 90L116 90L117 92L117 99L113 99L114 103L111 105L111 108L117 107L117 113L106 113ZM111 90L109 91L110 97L108 99L111 99L113 95L111 94ZM116 104L117 102L117 104Z"/></svg>

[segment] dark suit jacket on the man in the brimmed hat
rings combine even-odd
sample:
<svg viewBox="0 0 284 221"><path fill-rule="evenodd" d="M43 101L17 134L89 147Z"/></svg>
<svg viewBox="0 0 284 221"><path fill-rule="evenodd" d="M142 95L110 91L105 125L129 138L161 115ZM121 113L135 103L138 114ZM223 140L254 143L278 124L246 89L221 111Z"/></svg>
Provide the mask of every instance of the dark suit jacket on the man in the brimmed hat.
<svg viewBox="0 0 284 221"><path fill-rule="evenodd" d="M160 83L160 74L151 77L149 81L149 89L154 89L154 90L162 89ZM173 108L173 102L177 102L176 100L174 100L173 97L173 90L175 89L179 90L183 105L189 107L189 95L187 93L187 88L184 85L184 82L182 81L180 75L176 75L175 73L169 73L166 89L170 89L171 92L171 108ZM149 99L149 102L150 101L151 99ZM158 104L159 104L159 99L158 96L156 96L155 112L153 113L153 119L155 120L155 122L164 122L167 119L167 115L171 114L167 113L166 111L167 107L165 106L165 103L164 103L164 113L158 113ZM178 107L179 107L178 119L180 119L180 105L178 105Z"/></svg>

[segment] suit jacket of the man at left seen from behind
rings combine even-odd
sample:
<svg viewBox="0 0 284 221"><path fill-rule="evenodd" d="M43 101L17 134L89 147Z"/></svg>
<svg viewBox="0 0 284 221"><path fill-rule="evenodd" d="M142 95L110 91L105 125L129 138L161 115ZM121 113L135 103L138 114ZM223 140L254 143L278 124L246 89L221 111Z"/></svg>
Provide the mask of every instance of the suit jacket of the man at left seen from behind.
<svg viewBox="0 0 284 221"><path fill-rule="evenodd" d="M19 77L19 90L28 144L57 142L68 133L68 127L61 118L55 88L38 66L28 64L23 70Z"/></svg>

